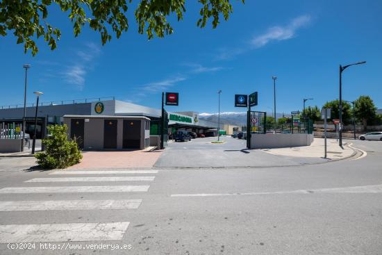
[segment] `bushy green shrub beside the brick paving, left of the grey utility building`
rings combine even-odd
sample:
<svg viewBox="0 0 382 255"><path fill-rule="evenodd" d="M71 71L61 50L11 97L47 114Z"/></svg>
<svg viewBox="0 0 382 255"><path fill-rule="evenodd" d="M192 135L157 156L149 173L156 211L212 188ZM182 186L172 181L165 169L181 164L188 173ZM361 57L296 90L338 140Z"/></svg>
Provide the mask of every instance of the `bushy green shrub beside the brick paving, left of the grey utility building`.
<svg viewBox="0 0 382 255"><path fill-rule="evenodd" d="M42 140L45 151L35 154L38 165L52 169L66 168L79 163L82 154L76 139L67 140L67 126L49 126L48 131L51 136Z"/></svg>

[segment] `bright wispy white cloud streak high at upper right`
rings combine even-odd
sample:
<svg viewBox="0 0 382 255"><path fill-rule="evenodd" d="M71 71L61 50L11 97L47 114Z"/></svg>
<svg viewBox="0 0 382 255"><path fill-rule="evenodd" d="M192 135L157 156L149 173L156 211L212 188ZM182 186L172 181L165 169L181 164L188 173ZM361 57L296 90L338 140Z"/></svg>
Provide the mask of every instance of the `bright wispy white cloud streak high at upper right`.
<svg viewBox="0 0 382 255"><path fill-rule="evenodd" d="M269 28L263 35L254 37L251 44L256 48L260 48L272 41L291 39L296 35L297 30L308 25L310 20L310 15L296 17L287 26L274 26Z"/></svg>

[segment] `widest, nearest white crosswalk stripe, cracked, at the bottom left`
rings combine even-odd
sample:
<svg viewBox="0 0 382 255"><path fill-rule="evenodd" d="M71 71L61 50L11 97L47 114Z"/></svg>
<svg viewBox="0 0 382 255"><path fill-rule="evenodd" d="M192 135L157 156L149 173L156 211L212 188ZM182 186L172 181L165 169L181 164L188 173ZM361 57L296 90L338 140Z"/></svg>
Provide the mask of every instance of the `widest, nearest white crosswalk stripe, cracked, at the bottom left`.
<svg viewBox="0 0 382 255"><path fill-rule="evenodd" d="M0 243L122 240L129 222L0 225Z"/></svg>

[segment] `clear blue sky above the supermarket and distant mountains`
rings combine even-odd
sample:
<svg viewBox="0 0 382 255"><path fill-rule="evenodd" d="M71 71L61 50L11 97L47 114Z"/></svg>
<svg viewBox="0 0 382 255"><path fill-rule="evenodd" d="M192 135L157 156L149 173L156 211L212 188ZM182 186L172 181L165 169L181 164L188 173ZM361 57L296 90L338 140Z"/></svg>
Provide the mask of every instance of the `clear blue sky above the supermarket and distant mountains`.
<svg viewBox="0 0 382 255"><path fill-rule="evenodd" d="M40 42L33 57L11 33L1 38L0 105L22 103L22 65L30 63L28 102L40 90L42 101L115 96L160 108L167 91L180 94L169 111L215 113L217 90L222 111L244 110L233 107L234 94L258 91L256 110L270 112L276 75L276 110L290 113L303 98L319 107L337 99L338 66L366 60L343 73L343 97L369 94L382 108L382 1L233 1L233 15L216 29L196 26L197 1L186 8L166 38L147 40L131 18L128 32L105 46L86 27L74 38L69 19L52 10L49 22L63 33L55 51Z"/></svg>

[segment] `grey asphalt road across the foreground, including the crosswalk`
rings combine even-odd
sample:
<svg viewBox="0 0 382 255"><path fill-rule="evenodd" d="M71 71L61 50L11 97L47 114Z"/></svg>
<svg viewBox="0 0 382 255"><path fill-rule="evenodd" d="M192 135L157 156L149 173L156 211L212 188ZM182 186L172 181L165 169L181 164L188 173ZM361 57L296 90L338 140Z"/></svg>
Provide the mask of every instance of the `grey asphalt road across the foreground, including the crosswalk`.
<svg viewBox="0 0 382 255"><path fill-rule="evenodd" d="M367 156L321 165L130 174L0 171L0 254L382 254L382 142L354 144ZM80 178L126 176L155 179ZM61 179L68 177L76 181ZM121 200L130 204L116 204ZM33 208L49 210L28 211ZM36 248L8 249L8 242L25 241ZM131 249L53 251L42 250L41 242Z"/></svg>

